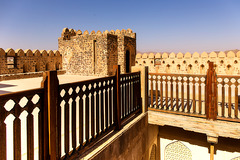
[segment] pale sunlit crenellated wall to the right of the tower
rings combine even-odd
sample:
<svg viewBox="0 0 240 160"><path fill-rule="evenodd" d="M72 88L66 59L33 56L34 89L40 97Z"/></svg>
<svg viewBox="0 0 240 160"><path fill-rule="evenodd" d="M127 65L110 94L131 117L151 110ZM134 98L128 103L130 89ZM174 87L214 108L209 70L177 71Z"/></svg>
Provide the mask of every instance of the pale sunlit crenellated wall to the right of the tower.
<svg viewBox="0 0 240 160"><path fill-rule="evenodd" d="M214 62L217 74L240 74L240 51L183 53L138 53L136 66L149 66L149 72L206 74L208 62Z"/></svg>

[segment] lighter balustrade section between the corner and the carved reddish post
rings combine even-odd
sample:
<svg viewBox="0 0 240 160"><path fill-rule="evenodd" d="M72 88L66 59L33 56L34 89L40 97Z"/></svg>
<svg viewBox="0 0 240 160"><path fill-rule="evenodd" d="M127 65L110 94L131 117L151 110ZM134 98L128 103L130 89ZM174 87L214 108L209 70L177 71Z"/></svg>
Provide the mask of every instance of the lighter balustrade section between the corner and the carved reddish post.
<svg viewBox="0 0 240 160"><path fill-rule="evenodd" d="M206 75L149 73L150 110L205 115Z"/></svg>

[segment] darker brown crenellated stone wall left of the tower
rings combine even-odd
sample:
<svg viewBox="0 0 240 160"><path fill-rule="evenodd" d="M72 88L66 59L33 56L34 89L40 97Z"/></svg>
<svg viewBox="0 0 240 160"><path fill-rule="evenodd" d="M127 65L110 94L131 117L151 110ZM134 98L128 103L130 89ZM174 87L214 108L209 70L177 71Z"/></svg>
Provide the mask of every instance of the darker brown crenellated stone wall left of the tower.
<svg viewBox="0 0 240 160"><path fill-rule="evenodd" d="M59 51L52 50L3 50L0 48L0 74L17 74L60 70L62 56Z"/></svg>

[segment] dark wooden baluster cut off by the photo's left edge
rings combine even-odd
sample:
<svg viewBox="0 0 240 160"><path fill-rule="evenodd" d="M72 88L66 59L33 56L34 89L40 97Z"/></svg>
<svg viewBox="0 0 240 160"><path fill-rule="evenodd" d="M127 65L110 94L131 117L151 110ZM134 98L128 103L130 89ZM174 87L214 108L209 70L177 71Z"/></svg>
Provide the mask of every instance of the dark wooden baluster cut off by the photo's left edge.
<svg viewBox="0 0 240 160"><path fill-rule="evenodd" d="M0 159L7 159L7 136L6 136L6 124L1 121L0 123Z"/></svg>

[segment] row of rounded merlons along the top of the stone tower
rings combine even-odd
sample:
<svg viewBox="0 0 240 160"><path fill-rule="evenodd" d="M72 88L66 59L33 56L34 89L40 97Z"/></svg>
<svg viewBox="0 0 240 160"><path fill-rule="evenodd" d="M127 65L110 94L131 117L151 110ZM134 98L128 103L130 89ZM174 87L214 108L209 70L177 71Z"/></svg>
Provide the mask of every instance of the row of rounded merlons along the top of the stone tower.
<svg viewBox="0 0 240 160"><path fill-rule="evenodd" d="M116 35L116 36L127 36L127 37L131 37L131 38L136 38L136 33L133 33L131 29L122 29L121 31L119 29L117 29L116 31L111 30L105 30L103 32L101 31L92 31L90 34L88 32L88 30L84 31L82 33L81 30L74 30L74 29L68 29L68 28L64 28L61 34L61 37L59 39L63 39L63 40L70 40L72 37L76 37L76 36L89 36L89 35L94 35L94 36L100 36L103 34L112 34L112 35Z"/></svg>

